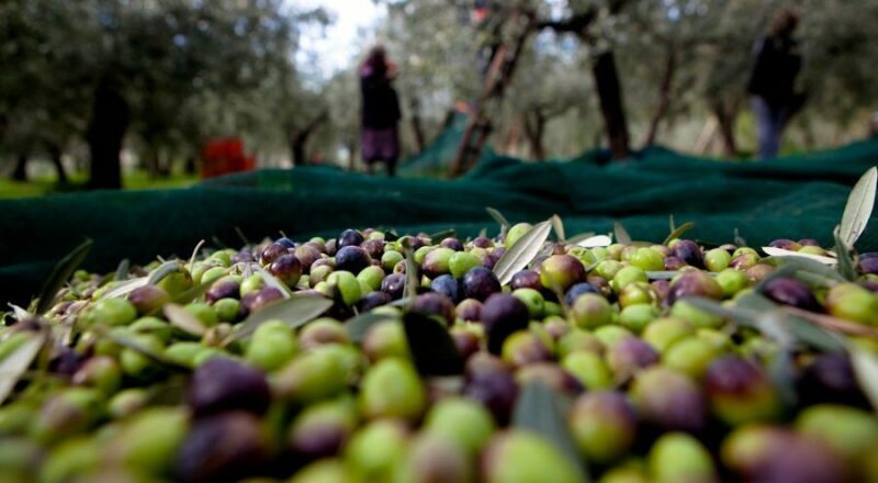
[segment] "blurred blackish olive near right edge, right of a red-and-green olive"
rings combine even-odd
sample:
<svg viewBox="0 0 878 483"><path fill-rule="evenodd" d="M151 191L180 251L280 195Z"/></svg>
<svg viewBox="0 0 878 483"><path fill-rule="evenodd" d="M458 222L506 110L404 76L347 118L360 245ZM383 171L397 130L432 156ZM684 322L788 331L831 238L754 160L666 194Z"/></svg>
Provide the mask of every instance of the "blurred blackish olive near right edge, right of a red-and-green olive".
<svg viewBox="0 0 878 483"><path fill-rule="evenodd" d="M818 356L796 383L802 404L835 403L868 407L845 352Z"/></svg>

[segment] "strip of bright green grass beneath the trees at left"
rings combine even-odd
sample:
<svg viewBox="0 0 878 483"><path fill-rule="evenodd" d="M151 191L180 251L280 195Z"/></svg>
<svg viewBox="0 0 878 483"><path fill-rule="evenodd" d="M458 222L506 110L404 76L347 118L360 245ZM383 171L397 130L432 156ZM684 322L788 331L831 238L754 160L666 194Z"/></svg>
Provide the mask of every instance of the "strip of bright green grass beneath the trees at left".
<svg viewBox="0 0 878 483"><path fill-rule="evenodd" d="M60 188L57 186L55 177L33 177L26 182L13 181L8 178L0 178L0 199L15 199L42 196L49 193L81 191L88 180L85 173L70 176L70 186ZM196 176L171 175L167 178L150 178L145 171L126 172L122 177L122 184L126 190L155 190L185 188L199 181Z"/></svg>

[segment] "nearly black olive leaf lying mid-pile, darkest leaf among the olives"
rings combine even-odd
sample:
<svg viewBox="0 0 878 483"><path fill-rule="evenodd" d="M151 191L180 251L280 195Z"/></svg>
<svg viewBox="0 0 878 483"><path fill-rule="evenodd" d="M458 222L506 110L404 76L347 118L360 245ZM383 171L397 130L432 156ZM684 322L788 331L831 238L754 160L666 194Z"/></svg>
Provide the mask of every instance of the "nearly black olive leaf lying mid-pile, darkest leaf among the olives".
<svg viewBox="0 0 878 483"><path fill-rule="evenodd" d="M463 371L454 340L439 321L416 312L403 318L413 362L421 375L455 375Z"/></svg>

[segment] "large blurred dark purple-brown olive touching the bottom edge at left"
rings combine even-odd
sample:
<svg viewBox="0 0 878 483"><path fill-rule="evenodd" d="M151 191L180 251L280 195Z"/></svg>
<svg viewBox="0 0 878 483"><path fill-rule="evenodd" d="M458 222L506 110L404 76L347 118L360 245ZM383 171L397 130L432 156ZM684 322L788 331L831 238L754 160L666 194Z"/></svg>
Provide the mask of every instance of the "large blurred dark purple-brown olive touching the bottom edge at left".
<svg viewBox="0 0 878 483"><path fill-rule="evenodd" d="M177 453L177 478L185 482L233 482L260 474L271 456L259 419L230 412L196 420Z"/></svg>

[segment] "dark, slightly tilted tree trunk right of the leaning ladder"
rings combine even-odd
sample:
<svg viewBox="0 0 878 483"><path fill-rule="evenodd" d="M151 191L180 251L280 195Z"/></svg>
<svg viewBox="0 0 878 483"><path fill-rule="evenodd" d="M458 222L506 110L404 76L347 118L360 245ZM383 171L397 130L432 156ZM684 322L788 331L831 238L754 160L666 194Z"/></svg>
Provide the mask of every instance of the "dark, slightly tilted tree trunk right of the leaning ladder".
<svg viewBox="0 0 878 483"><path fill-rule="evenodd" d="M631 154L631 150L629 147L628 121L626 120L622 103L622 89L619 83L619 74L616 69L616 58L612 55L612 50L598 55L595 65L592 67L592 74L595 77L595 86L600 100L600 114L604 117L604 126L612 158L624 159Z"/></svg>

